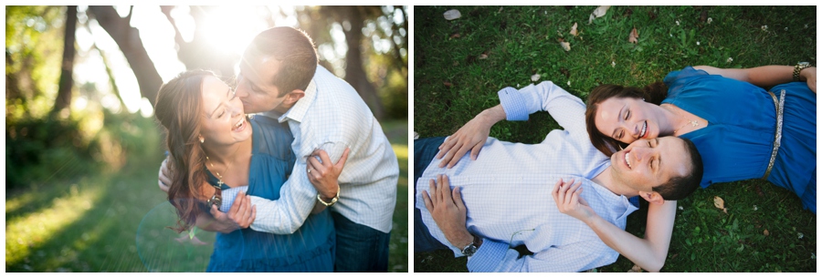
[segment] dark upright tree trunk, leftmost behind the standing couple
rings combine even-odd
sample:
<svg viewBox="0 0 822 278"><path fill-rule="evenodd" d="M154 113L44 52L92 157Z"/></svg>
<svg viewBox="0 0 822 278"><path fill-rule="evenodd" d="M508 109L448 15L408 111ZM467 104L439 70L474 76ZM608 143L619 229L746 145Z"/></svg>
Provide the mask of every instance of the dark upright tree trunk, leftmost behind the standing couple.
<svg viewBox="0 0 822 278"><path fill-rule="evenodd" d="M71 76L74 69L74 32L77 29L77 6L69 5L66 8L66 31L63 39L63 66L60 70L58 97L54 101L51 114L57 114L71 105L71 88L74 78Z"/></svg>

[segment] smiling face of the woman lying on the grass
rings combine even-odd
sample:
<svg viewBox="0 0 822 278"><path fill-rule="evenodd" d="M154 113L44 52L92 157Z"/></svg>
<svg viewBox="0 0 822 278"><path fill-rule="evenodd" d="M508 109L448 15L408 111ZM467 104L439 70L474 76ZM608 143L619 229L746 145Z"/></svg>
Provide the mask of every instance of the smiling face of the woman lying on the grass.
<svg viewBox="0 0 822 278"><path fill-rule="evenodd" d="M599 103L594 123L605 136L627 144L655 139L662 119L660 109L641 98L608 98Z"/></svg>

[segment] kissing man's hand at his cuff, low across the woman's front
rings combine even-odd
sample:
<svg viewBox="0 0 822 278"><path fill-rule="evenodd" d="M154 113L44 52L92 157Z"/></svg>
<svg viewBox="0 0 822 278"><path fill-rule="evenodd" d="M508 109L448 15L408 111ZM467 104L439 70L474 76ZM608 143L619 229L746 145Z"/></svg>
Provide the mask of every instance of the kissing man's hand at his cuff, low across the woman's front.
<svg viewBox="0 0 822 278"><path fill-rule="evenodd" d="M216 232L229 233L237 229L248 228L257 217L257 206L252 206L251 197L240 191L227 213L219 211L216 205L212 205L211 215L214 216L215 223L212 227Z"/></svg>

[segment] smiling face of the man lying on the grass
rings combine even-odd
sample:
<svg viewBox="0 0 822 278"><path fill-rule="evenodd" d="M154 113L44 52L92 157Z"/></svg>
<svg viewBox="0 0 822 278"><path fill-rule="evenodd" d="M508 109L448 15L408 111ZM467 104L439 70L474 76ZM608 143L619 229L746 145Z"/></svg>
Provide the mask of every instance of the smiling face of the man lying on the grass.
<svg viewBox="0 0 822 278"><path fill-rule="evenodd" d="M672 178L687 175L691 167L685 141L670 136L638 139L611 155L614 178L638 191L651 192Z"/></svg>

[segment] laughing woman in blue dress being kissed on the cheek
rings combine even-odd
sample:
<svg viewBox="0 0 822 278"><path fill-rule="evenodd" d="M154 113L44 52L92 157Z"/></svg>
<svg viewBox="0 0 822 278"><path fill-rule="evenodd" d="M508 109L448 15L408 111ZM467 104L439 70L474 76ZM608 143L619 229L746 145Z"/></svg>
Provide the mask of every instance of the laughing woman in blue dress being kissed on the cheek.
<svg viewBox="0 0 822 278"><path fill-rule="evenodd" d="M217 232L206 271L333 271L334 225L329 211L319 210L324 206L292 234L247 228L256 217L248 195L278 199L293 168L287 126L248 118L234 91L209 71L175 77L160 88L156 103L155 115L167 133L169 168L177 173L168 189L179 216L175 231L197 226ZM312 178L336 182L334 173ZM225 218L231 221L221 221ZM232 221L236 226L222 224Z"/></svg>

